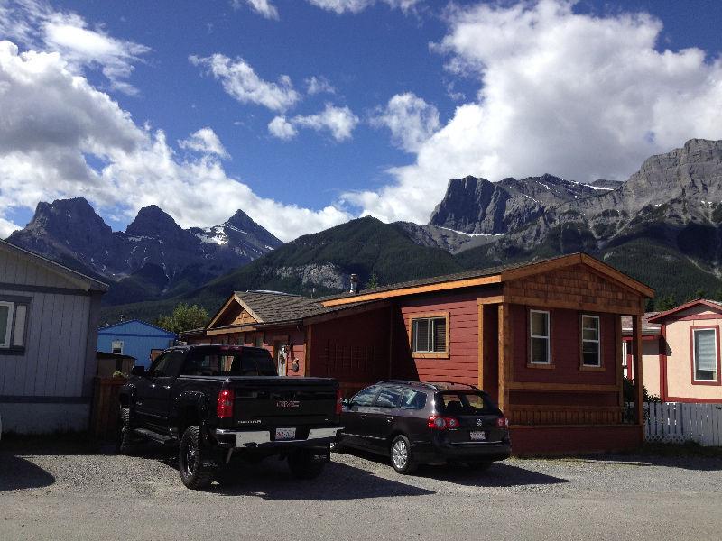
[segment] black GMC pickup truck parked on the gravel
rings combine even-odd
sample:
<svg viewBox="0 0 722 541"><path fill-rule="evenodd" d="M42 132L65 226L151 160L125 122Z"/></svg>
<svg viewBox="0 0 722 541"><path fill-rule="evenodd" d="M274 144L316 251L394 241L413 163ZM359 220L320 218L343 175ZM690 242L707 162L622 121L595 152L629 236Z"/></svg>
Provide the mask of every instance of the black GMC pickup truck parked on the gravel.
<svg viewBox="0 0 722 541"><path fill-rule="evenodd" d="M118 451L142 440L178 445L180 479L207 487L233 455L288 459L300 478L329 462L341 412L338 381L282 377L263 348L173 347L148 370L135 367L120 391Z"/></svg>

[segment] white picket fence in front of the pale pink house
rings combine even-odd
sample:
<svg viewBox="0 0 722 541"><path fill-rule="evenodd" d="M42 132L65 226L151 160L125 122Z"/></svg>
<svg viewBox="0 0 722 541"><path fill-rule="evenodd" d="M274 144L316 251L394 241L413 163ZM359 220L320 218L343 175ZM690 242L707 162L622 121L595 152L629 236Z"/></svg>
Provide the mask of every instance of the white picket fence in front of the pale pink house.
<svg viewBox="0 0 722 541"><path fill-rule="evenodd" d="M722 445L722 404L645 402L649 442Z"/></svg>

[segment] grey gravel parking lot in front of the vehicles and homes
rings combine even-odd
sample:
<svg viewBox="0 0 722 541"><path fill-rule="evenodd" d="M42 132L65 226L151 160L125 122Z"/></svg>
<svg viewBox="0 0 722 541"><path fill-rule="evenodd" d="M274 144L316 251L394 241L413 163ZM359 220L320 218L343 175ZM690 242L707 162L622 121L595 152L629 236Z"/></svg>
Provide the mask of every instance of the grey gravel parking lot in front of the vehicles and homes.
<svg viewBox="0 0 722 541"><path fill-rule="evenodd" d="M286 464L242 465L207 492L172 455L63 442L3 442L0 539L720 539L722 459L603 455L511 459L486 472L403 477L334 454L314 481ZM104 453L107 451L107 453Z"/></svg>

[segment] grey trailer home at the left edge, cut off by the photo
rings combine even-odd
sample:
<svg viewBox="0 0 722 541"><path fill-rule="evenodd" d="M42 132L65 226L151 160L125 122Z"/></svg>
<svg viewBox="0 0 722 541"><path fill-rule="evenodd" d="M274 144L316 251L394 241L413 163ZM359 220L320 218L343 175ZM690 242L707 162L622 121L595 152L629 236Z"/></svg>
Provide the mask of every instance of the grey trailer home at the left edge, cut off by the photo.
<svg viewBox="0 0 722 541"><path fill-rule="evenodd" d="M0 415L20 434L86 430L107 285L0 241Z"/></svg>

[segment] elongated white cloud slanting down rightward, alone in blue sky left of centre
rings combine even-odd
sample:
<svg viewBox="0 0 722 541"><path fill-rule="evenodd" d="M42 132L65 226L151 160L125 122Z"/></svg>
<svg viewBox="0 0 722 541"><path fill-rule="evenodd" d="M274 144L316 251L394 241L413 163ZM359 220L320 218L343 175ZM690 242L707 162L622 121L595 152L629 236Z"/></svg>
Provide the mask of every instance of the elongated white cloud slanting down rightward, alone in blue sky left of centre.
<svg viewBox="0 0 722 541"><path fill-rule="evenodd" d="M216 53L207 58L195 55L190 63L208 69L208 73L220 81L227 94L242 104L264 105L272 111L285 111L299 101L299 93L293 89L291 78L282 75L277 83L258 77L255 70L243 59L231 60Z"/></svg>

